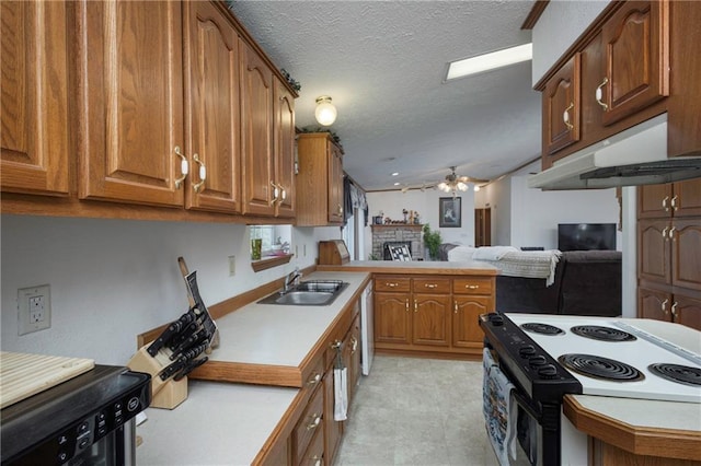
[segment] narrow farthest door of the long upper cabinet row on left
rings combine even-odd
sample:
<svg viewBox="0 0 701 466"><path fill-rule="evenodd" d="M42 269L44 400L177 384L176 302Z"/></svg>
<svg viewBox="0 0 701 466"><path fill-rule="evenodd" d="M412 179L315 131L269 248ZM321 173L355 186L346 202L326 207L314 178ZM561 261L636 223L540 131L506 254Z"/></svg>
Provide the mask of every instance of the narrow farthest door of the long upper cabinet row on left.
<svg viewBox="0 0 701 466"><path fill-rule="evenodd" d="M275 80L275 183L279 194L277 217L294 218L295 195L295 97Z"/></svg>

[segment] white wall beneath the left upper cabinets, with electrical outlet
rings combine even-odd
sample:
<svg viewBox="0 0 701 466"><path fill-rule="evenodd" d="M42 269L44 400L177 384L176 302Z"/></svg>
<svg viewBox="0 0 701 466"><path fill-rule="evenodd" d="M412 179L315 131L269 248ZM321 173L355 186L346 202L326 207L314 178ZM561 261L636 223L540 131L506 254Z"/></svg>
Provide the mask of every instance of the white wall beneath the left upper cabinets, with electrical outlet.
<svg viewBox="0 0 701 466"><path fill-rule="evenodd" d="M126 364L136 336L187 310L177 266L197 270L202 296L212 305L313 265L319 240L338 228L292 229L289 264L255 273L248 228L106 219L2 215L2 329L5 351L92 358ZM229 277L228 256L235 256ZM50 284L51 327L18 336L19 288Z"/></svg>

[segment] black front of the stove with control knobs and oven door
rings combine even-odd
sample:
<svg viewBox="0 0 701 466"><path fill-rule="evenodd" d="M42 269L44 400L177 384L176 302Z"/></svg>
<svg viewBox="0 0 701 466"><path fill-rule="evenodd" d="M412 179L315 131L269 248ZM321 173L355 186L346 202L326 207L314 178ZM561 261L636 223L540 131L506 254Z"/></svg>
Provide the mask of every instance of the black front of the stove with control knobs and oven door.
<svg viewBox="0 0 701 466"><path fill-rule="evenodd" d="M507 316L483 314L479 325L485 348L514 384L516 439L524 456L531 465L560 465L563 396L582 394L582 384Z"/></svg>

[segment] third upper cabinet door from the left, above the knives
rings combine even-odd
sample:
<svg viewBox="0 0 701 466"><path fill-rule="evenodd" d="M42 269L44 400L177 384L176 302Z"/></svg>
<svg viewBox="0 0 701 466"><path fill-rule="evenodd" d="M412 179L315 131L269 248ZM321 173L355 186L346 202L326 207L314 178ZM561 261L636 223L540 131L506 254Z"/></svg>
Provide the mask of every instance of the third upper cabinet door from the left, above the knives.
<svg viewBox="0 0 701 466"><path fill-rule="evenodd" d="M191 155L186 207L240 212L238 34L214 3L183 4Z"/></svg>

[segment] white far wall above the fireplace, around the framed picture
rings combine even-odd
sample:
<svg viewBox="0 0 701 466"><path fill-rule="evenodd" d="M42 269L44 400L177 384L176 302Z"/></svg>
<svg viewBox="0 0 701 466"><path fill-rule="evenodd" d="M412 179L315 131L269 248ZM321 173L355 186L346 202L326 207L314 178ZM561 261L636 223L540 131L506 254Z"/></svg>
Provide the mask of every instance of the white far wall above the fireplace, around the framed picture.
<svg viewBox="0 0 701 466"><path fill-rule="evenodd" d="M474 245L474 193L467 190L460 193L461 198L461 226L439 228L438 203L439 198L451 197L437 189L412 189L402 191L368 193L367 200L370 220L380 212L392 220L403 220L402 209L414 210L420 214L421 223L428 223L430 230L440 231L444 243L459 243L466 246ZM370 229L367 229L370 230ZM366 232L365 257L367 258L372 249L372 238Z"/></svg>

